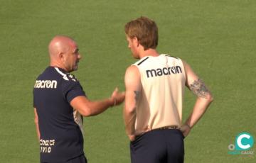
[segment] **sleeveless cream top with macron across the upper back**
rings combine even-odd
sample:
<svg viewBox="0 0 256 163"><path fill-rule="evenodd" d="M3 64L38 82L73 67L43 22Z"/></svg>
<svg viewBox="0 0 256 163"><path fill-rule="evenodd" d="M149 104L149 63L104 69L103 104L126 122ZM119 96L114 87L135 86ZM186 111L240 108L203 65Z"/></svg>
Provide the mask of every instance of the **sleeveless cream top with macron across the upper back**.
<svg viewBox="0 0 256 163"><path fill-rule="evenodd" d="M164 126L181 126L186 75L183 62L169 55L146 56L136 62L142 92L138 101L136 133Z"/></svg>

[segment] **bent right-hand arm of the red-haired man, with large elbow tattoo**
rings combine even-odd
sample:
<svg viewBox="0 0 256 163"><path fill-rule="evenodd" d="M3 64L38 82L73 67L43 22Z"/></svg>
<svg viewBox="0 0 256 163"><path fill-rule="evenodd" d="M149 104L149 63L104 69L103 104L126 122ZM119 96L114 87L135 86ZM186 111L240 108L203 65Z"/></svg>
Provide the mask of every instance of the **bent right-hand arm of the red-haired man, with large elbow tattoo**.
<svg viewBox="0 0 256 163"><path fill-rule="evenodd" d="M206 84L199 79L191 67L186 62L183 62L183 64L186 71L186 86L197 96L193 111L191 115L188 116L185 125L181 128L183 135L186 136L191 128L193 128L193 125L195 125L206 112L206 109L213 101L213 96L210 94Z"/></svg>

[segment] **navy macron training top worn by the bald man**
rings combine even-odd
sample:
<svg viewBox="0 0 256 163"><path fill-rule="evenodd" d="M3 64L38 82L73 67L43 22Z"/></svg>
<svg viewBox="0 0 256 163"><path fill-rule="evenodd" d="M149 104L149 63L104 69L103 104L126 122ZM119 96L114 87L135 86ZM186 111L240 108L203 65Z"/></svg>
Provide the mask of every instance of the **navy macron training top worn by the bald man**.
<svg viewBox="0 0 256 163"><path fill-rule="evenodd" d="M85 96L79 81L58 67L47 67L33 89L38 113L41 162L65 162L83 154L82 132L70 101Z"/></svg>

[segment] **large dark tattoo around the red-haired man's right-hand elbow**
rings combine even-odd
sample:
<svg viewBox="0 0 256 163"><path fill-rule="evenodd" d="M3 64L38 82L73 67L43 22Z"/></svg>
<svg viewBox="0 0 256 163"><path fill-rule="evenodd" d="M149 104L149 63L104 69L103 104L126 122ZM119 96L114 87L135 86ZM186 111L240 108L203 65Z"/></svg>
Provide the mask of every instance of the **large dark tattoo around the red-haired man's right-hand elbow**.
<svg viewBox="0 0 256 163"><path fill-rule="evenodd" d="M189 88L198 97L202 97L206 99L207 95L210 94L210 91L206 88L206 85L201 79L193 81L193 83L189 86Z"/></svg>

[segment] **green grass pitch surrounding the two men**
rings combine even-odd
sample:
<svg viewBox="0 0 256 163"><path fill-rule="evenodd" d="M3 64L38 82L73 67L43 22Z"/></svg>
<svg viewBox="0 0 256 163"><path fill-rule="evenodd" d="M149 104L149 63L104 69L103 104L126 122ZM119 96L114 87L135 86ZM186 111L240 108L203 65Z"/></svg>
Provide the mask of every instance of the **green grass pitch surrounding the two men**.
<svg viewBox="0 0 256 163"><path fill-rule="evenodd" d="M228 154L238 133L246 131L256 139L256 1L0 0L0 4L1 163L39 162L32 90L48 66L50 39L75 38L83 58L73 74L90 99L102 99L115 86L124 90L125 69L135 62L124 24L139 16L158 24L157 50L191 64L215 97L186 137L185 162L256 161L256 153ZM183 119L194 100L186 91ZM85 118L85 154L90 163L129 162L122 106Z"/></svg>

